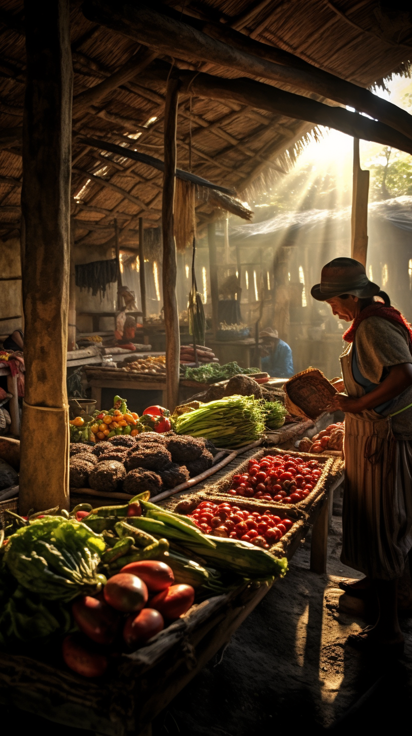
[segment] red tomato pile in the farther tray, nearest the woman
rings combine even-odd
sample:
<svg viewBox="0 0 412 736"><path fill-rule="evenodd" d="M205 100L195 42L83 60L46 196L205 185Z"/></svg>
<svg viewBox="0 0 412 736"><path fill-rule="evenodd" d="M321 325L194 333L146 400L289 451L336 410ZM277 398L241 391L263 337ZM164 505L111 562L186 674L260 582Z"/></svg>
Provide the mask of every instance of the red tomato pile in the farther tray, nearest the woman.
<svg viewBox="0 0 412 736"><path fill-rule="evenodd" d="M321 475L322 470L316 460L268 455L260 461L250 459L248 472L234 475L227 492L232 496L299 503L313 491Z"/></svg>

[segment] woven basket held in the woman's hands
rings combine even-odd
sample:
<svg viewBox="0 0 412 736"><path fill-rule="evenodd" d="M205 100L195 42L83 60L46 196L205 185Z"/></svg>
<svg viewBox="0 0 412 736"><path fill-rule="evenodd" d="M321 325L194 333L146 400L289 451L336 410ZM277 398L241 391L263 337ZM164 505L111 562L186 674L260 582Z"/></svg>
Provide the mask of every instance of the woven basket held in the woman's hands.
<svg viewBox="0 0 412 736"><path fill-rule="evenodd" d="M318 368L307 368L296 373L285 383L285 406L289 414L297 414L308 420L316 420L322 414L333 396L338 392L322 371Z"/></svg>

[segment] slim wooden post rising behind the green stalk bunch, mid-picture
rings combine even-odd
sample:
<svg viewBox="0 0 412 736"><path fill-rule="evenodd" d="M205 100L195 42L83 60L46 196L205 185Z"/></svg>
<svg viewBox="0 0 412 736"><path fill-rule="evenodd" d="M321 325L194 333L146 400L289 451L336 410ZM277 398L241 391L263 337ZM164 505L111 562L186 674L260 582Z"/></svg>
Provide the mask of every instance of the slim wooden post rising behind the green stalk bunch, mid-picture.
<svg viewBox="0 0 412 736"><path fill-rule="evenodd" d="M165 102L162 226L163 226L163 308L166 328L167 408L174 411L179 397L180 332L176 299L176 241L174 240L174 181L176 172L177 105L179 79L168 80Z"/></svg>

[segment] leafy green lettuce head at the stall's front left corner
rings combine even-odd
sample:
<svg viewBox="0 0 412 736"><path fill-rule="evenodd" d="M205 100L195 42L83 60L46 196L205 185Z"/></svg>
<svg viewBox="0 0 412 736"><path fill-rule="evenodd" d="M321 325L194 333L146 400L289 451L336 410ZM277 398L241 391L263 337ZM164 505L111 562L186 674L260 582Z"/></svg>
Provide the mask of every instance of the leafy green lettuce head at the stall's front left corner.
<svg viewBox="0 0 412 736"><path fill-rule="evenodd" d="M10 537L4 562L27 590L48 601L70 601L99 592L104 576L97 566L106 543L85 524L46 516Z"/></svg>

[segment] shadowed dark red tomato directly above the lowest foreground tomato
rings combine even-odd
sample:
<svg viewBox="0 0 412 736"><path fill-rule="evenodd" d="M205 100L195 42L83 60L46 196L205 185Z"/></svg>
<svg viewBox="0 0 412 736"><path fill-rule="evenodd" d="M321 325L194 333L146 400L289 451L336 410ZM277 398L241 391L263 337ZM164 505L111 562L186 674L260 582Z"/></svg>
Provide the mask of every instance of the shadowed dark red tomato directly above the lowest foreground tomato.
<svg viewBox="0 0 412 736"><path fill-rule="evenodd" d="M98 644L111 644L116 637L120 616L102 596L81 595L71 604L80 631Z"/></svg>

